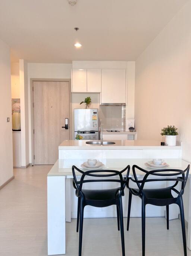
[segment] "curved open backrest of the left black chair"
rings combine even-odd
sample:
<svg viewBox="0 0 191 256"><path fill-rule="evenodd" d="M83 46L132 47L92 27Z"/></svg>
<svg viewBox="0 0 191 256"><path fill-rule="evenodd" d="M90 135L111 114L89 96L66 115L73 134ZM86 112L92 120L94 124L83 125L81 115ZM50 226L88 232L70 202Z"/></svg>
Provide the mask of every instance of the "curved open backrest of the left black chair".
<svg viewBox="0 0 191 256"><path fill-rule="evenodd" d="M77 181L76 179L76 174L75 174L75 170L80 172L82 174L80 181ZM127 174L126 174L126 178L123 180L122 177L122 173L125 172L127 170ZM73 174L73 183L75 183L76 189L78 190L78 193L81 193L82 190L82 185L84 183L88 183L88 182L118 182L120 183L120 193L119 195L122 193L122 195L124 195L124 189L125 189L125 185L126 185L126 181L129 177L129 171L130 171L130 165L126 166L125 169L123 169L122 171L115 171L115 170L91 170L91 171L86 171L83 172L82 170L78 169L75 165L72 166L72 174ZM106 173L106 174L104 174ZM101 177L115 177L118 176L118 179L104 179L104 180L100 180L100 179L93 179L93 180L84 180L85 176L90 176L90 177L97 177L97 178L101 178Z"/></svg>

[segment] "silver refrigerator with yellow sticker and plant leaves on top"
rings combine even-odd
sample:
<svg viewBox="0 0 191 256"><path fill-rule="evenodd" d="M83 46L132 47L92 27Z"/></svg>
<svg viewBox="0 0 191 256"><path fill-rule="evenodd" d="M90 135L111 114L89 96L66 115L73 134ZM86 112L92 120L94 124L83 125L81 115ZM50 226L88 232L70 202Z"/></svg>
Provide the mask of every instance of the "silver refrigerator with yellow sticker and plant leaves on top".
<svg viewBox="0 0 191 256"><path fill-rule="evenodd" d="M74 109L74 138L99 139L98 109Z"/></svg>

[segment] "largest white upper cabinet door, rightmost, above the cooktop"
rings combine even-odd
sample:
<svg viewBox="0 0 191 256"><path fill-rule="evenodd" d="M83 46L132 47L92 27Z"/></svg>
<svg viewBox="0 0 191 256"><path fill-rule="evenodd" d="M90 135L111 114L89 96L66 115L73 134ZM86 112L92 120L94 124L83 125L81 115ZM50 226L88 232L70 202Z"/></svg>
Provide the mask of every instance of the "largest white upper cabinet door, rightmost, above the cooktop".
<svg viewBox="0 0 191 256"><path fill-rule="evenodd" d="M126 69L101 70L101 103L126 102Z"/></svg>

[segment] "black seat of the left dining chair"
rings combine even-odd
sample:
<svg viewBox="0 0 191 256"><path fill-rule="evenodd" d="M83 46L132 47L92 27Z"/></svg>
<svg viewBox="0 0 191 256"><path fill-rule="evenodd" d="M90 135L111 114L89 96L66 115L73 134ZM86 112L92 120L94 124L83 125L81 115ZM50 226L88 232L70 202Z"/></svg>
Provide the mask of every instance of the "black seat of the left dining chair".
<svg viewBox="0 0 191 256"><path fill-rule="evenodd" d="M85 200L112 200L117 198L118 192L119 188L101 190L82 189ZM78 191L76 191L76 195L78 195Z"/></svg>

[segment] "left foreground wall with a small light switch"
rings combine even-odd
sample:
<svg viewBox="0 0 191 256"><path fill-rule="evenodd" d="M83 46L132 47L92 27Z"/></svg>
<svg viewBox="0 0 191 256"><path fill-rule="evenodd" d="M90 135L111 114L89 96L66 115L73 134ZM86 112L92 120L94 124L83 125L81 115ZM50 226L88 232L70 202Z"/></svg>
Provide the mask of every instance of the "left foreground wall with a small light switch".
<svg viewBox="0 0 191 256"><path fill-rule="evenodd" d="M13 176L10 49L0 40L0 186ZM6 117L10 122L6 123Z"/></svg>

